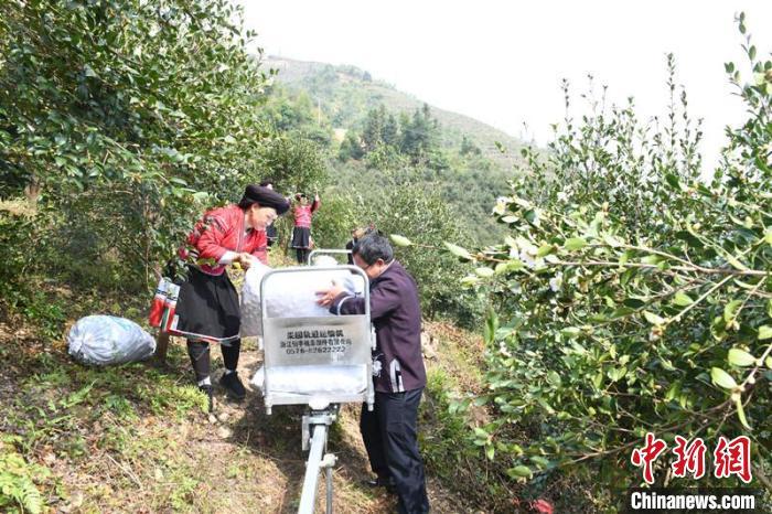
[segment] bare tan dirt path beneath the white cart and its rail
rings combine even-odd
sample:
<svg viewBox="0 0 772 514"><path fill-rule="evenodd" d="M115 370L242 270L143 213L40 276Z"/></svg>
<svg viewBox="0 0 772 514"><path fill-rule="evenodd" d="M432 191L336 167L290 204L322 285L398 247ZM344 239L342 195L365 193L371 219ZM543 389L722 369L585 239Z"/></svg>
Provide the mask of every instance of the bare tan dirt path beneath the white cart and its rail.
<svg viewBox="0 0 772 514"><path fill-rule="evenodd" d="M242 377L250 377L260 365L257 351L245 351L239 360ZM215 378L218 378L215 375ZM202 472L216 481L228 462L238 461L242 468L254 469L247 476L234 476L226 488L202 492L212 503L223 496L229 503L229 512L297 512L305 472L307 452L301 451L301 416L299 406L276 406L274 415L267 416L259 390L250 384L247 399L233 403L217 390L215 401L216 419L195 426L191 433L194 441L193 453L206 454L207 464ZM396 501L384 490L369 490L361 484L369 476L369 465L362 438L358 432L358 406L344 406L336 426L330 436L329 450L337 457L333 474L335 512L342 513L385 513L396 511ZM222 482L221 482L222 484ZM222 484L225 485L225 484ZM429 496L433 512L469 512L461 507L463 502L446 491L429 478ZM225 499L228 502L225 502ZM318 512L324 512L324 486L320 476L317 494ZM214 503L221 503L216 501Z"/></svg>

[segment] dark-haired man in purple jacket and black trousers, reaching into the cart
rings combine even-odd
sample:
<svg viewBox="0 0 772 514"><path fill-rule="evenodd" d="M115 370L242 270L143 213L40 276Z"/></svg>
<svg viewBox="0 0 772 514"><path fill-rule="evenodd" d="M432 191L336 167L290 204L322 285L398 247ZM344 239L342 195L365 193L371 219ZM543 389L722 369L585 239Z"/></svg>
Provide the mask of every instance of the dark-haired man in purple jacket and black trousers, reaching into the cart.
<svg viewBox="0 0 772 514"><path fill-rule="evenodd" d="M371 233L357 240L354 263L369 278L369 313L376 332L373 352L375 409L363 405L360 429L377 479L394 489L400 513L429 512L423 461L418 451L418 404L426 386L421 355L421 308L414 278L394 259L388 239ZM363 314L364 298L340 285L319 291L334 314Z"/></svg>

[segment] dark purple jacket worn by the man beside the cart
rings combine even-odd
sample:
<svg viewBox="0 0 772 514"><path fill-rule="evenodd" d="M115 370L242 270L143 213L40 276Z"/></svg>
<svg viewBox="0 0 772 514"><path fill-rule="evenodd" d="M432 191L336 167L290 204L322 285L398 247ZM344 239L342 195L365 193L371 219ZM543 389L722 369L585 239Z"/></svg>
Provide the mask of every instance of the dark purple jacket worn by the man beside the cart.
<svg viewBox="0 0 772 514"><path fill-rule="evenodd" d="M347 292L330 307L333 314L364 314L365 300ZM421 307L412 277L398 261L369 283L369 315L375 325L375 390L403 393L426 386L421 355Z"/></svg>

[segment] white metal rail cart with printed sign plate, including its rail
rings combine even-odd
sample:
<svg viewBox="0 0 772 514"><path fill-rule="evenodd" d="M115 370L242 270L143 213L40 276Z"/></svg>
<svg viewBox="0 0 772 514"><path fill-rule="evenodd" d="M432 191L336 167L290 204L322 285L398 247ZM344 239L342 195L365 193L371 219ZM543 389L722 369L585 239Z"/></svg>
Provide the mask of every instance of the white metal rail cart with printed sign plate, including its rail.
<svg viewBox="0 0 772 514"><path fill-rule="evenodd" d="M356 315L270 315L270 291L283 287L282 278L303 274L312 287L330 272L349 275L358 281L365 313ZM297 280L296 280L297 283ZM309 291L311 295L315 291ZM293 267L268 271L260 283L262 343L265 351L262 395L267 414L276 405L305 405L302 448L310 449L298 512L311 514L317 482L326 472L326 512L332 513L332 468L335 457L326 453L328 431L337 418L340 404L367 404L373 409L372 350L375 332L369 319L367 276L355 266Z"/></svg>

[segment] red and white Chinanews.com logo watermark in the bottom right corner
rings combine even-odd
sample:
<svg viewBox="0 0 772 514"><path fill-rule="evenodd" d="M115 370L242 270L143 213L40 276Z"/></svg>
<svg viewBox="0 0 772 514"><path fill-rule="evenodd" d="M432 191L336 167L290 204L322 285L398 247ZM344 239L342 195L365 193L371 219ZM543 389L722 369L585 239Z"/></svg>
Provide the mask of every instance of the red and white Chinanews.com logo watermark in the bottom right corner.
<svg viewBox="0 0 772 514"><path fill-rule="evenodd" d="M669 453L667 443L654 433L646 433L642 448L635 448L630 462L641 468L643 481L650 486L635 488L626 492L626 513L770 513L772 505L764 503L764 492L753 488L652 488L655 482L654 463L663 456L673 454L672 478L699 481L709 472L716 479L737 478L743 484L753 480L751 468L751 440L747 436L728 439L720 436L709 451L701 439L675 437L675 448ZM708 468L708 456L710 456ZM710 471L708 471L710 469Z"/></svg>

